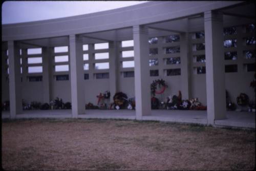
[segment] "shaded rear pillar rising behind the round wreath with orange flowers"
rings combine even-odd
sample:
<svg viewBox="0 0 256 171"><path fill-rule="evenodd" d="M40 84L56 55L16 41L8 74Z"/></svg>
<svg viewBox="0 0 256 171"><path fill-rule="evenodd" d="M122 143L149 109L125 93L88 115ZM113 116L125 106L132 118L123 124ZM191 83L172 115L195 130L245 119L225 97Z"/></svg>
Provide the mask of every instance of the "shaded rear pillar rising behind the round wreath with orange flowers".
<svg viewBox="0 0 256 171"><path fill-rule="evenodd" d="M110 54L110 100L113 100L113 96L118 92L118 74L119 71L119 52L118 47L120 45L119 41L109 42L109 54Z"/></svg>

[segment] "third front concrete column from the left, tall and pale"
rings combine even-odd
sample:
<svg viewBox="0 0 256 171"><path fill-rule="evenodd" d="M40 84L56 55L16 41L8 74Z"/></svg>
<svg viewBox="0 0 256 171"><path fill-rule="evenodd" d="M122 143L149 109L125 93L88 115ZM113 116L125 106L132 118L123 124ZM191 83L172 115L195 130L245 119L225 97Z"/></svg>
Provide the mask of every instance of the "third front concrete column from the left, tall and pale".
<svg viewBox="0 0 256 171"><path fill-rule="evenodd" d="M136 119L151 115L150 66L148 65L148 28L133 26Z"/></svg>

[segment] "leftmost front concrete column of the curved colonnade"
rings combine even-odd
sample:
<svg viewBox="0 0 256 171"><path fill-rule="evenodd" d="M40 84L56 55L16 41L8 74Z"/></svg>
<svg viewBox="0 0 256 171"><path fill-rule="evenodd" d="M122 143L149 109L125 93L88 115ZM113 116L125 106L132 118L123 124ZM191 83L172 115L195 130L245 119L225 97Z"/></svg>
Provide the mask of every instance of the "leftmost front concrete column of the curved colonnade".
<svg viewBox="0 0 256 171"><path fill-rule="evenodd" d="M22 95L20 82L20 57L16 42L8 41L9 58L9 89L10 89L10 118L22 113Z"/></svg>

